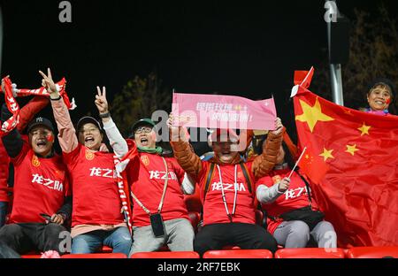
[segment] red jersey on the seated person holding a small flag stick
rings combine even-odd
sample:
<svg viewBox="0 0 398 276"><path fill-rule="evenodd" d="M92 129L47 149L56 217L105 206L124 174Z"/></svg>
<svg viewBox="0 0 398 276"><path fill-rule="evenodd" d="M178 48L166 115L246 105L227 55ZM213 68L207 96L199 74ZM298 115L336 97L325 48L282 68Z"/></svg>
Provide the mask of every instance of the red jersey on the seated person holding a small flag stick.
<svg viewBox="0 0 398 276"><path fill-rule="evenodd" d="M283 169L283 170L275 170L272 171L269 175L264 176L263 178L257 180L258 185L265 185L270 188L280 180L287 177L291 172L291 169ZM315 202L314 198L311 197L312 207L314 209L318 209L318 205ZM278 216L286 211L292 211L298 208L302 208L309 205L309 198L307 195L307 188L305 186L305 182L301 179L301 177L297 173L293 173L290 178L290 186L287 191L279 196L277 200L270 204L262 204L264 210L267 211L267 214L271 217L278 218ZM282 223L282 220L277 219L274 221L270 218L267 218L268 231L273 234L275 229Z"/></svg>

